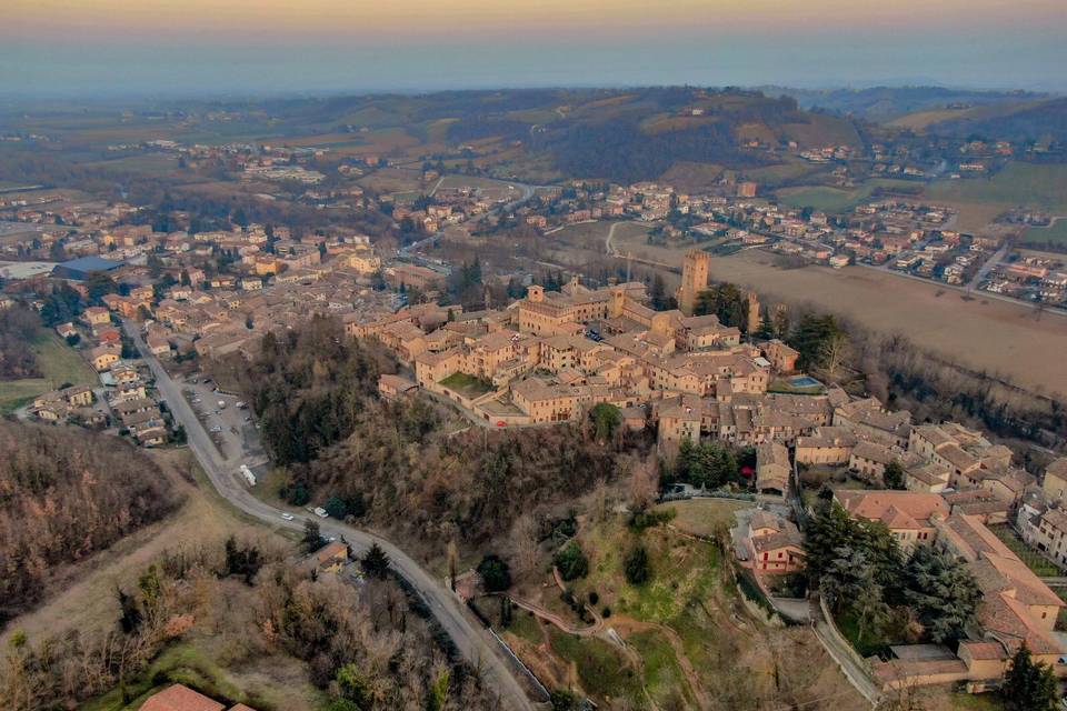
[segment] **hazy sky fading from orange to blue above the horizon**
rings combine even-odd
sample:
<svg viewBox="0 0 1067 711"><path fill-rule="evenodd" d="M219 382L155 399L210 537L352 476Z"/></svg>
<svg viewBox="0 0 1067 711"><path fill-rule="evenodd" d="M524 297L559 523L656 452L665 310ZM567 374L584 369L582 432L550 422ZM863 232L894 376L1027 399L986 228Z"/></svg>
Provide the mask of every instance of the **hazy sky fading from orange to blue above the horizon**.
<svg viewBox="0 0 1067 711"><path fill-rule="evenodd" d="M1067 0L3 0L0 96L1067 91Z"/></svg>

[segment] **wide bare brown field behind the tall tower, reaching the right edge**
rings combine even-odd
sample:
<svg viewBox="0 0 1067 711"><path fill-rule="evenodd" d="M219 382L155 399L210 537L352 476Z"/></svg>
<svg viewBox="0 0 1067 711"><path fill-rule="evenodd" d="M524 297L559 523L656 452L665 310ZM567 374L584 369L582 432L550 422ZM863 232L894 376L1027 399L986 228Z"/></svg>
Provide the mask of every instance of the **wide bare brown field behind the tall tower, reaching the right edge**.
<svg viewBox="0 0 1067 711"><path fill-rule="evenodd" d="M616 236L615 246L632 249L636 258L679 266L685 252L684 247L652 247L624 233ZM1038 320L1025 304L984 299L980 293L965 301L963 294L936 283L864 267L781 269L760 250L712 259L710 274L755 289L765 301L810 303L872 331L903 334L974 370L1038 391L1067 393L1067 369L1047 357L1067 352L1067 318L1061 316L1046 313ZM668 288L677 286L677 276L665 278Z"/></svg>

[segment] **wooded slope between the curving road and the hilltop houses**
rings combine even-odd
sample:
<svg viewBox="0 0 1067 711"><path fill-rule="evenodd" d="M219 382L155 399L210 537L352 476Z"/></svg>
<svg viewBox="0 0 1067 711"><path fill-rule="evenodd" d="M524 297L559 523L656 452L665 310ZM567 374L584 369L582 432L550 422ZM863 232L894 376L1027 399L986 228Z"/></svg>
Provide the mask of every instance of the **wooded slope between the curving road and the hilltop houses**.
<svg viewBox="0 0 1067 711"><path fill-rule="evenodd" d="M298 505L431 540L442 529L476 543L519 510L578 497L638 465L644 433L591 419L551 429L451 432L448 412L425 398L377 393L395 362L373 341L353 341L336 320L315 319L282 342L265 338L251 364L223 363L260 418L263 441L288 469L282 494ZM452 428L453 429L453 428Z"/></svg>

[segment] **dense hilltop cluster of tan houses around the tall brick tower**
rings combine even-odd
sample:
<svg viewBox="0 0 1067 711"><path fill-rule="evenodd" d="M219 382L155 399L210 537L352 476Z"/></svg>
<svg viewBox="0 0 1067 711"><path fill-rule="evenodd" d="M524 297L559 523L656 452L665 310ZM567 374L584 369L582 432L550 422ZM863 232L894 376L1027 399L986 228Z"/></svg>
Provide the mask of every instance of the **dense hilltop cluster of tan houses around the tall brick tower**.
<svg viewBox="0 0 1067 711"><path fill-rule="evenodd" d="M690 291L699 291L700 278L706 284L706 270L697 268L706 257L687 257L679 292L684 306L694 302ZM606 402L620 408L628 423L644 427L646 405L651 405L665 444L681 439L684 421L691 418L677 417L677 410L690 399L727 409L735 398L746 405L762 403L772 373L795 368L796 351L780 341L744 344L740 331L715 316L654 311L644 302L641 283L589 289L576 277L561 291L531 286L525 299L502 310L465 313L423 304L347 330L377 338L413 371L410 384L448 398L490 425L575 420ZM750 308L758 323L755 299ZM392 394L403 383L390 378L382 387ZM804 405L782 404L788 407ZM760 425L779 419L772 405L767 408ZM740 431L740 438L749 437L748 427Z"/></svg>

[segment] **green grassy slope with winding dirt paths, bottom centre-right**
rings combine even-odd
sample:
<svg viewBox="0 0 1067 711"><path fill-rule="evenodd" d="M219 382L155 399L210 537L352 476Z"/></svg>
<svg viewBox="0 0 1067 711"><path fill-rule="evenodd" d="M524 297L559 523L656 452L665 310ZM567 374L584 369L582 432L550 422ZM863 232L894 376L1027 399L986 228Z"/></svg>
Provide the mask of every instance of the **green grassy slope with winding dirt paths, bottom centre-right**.
<svg viewBox="0 0 1067 711"><path fill-rule="evenodd" d="M706 534L731 522L734 511L746 504L689 501L671 505L678 510L675 528ZM597 592L596 609L611 609L606 624L636 655L631 663L638 665L644 697L631 697L634 705L647 708L652 702L657 708L699 708L707 703L714 709L742 709L761 708L759 704L770 699L785 703L834 694L842 710L861 708L807 630L772 630L748 617L728 582L717 545L664 528L646 530L640 539L650 553L652 579L634 587L624 579L622 559L636 539L618 519L584 525L579 541L589 557L590 571L572 583L579 598ZM527 620L513 628L526 649L545 649L538 634L548 628L538 630ZM554 641L551 651L562 663L575 663L580 685L594 693L584 680L598 662L589 659L592 650L578 644L561 647ZM794 658L802 661L789 662L788 680L779 680L782 660ZM740 670L745 672L739 674ZM734 681L724 687L726 678ZM622 679L611 678L620 689L627 680L625 671ZM590 680L595 688L601 682L599 677Z"/></svg>

